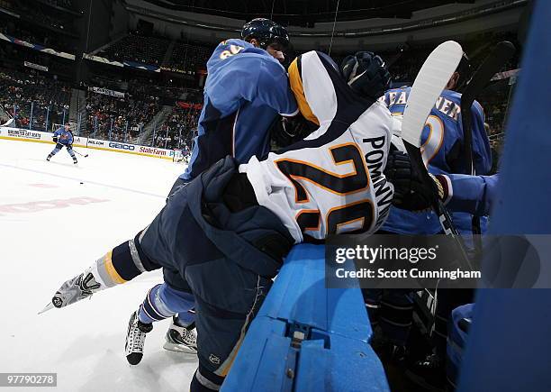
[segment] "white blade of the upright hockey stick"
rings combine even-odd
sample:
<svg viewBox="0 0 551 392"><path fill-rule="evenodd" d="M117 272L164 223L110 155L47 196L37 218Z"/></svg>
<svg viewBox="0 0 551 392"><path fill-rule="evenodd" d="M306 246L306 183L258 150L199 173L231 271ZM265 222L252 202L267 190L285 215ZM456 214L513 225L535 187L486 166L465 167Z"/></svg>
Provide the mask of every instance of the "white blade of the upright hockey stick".
<svg viewBox="0 0 551 392"><path fill-rule="evenodd" d="M404 141L420 147L421 134L430 110L455 72L462 56L463 50L456 41L443 42L429 54L413 82L404 109L402 120Z"/></svg>

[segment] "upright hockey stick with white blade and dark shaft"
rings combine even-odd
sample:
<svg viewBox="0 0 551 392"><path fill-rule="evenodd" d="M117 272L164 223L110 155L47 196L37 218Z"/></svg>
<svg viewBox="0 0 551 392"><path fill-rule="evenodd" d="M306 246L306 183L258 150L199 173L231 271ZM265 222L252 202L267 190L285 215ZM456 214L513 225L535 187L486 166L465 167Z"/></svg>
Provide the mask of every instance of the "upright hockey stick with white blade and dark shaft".
<svg viewBox="0 0 551 392"><path fill-rule="evenodd" d="M433 187L434 181L430 178L420 153L423 128L430 110L432 110L438 96L446 87L447 81L455 72L462 56L463 50L455 41L446 41L438 45L420 68L403 112L402 141L410 156L413 169L417 172L421 182L428 188ZM461 255L462 267L472 269L463 240L457 232L446 207L438 197L434 198L432 208L438 215L438 220L444 232L456 242L457 250Z"/></svg>

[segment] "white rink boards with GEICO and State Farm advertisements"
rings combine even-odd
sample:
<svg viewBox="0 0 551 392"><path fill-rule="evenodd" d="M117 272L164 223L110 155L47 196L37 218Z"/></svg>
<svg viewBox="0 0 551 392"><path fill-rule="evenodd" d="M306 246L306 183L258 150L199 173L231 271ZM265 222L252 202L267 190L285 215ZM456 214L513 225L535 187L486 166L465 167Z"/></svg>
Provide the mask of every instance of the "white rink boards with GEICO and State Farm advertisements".
<svg viewBox="0 0 551 392"><path fill-rule="evenodd" d="M10 141L34 141L54 144L51 132L33 131L23 128L0 127L0 139ZM163 160L174 160L174 150L158 149L138 144L123 143L121 141L103 141L100 139L74 136L73 145L94 150L109 150L126 154L141 155Z"/></svg>

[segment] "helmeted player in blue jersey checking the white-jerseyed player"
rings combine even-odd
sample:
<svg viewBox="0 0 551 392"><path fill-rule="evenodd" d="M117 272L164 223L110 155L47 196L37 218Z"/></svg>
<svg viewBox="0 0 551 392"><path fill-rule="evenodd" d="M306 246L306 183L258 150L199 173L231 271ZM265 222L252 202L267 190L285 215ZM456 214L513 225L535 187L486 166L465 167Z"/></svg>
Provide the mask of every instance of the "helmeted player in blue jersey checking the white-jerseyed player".
<svg viewBox="0 0 551 392"><path fill-rule="evenodd" d="M267 19L255 19L243 26L241 37L242 40L222 41L207 62L198 135L189 165L169 195L227 155L238 163L253 156L265 157L272 123L280 115L298 114L285 68L280 64L289 44L285 28ZM154 288L150 296L178 297L180 308L185 309L174 317L164 347L195 352L194 298L190 287L183 281L169 294L162 290ZM143 311L140 319L151 323L158 319L158 312L162 313L159 309Z"/></svg>

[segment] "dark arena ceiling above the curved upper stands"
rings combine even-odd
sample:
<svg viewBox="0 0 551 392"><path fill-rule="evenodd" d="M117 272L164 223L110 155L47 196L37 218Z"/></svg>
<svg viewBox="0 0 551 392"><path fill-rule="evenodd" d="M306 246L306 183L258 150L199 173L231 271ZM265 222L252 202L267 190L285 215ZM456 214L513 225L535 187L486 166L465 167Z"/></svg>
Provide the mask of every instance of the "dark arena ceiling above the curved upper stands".
<svg viewBox="0 0 551 392"><path fill-rule="evenodd" d="M273 15L285 25L313 27L335 17L338 0L146 0L175 11L212 14L250 20ZM474 4L474 0L339 0L339 21L369 18L411 18L426 8L447 4Z"/></svg>

